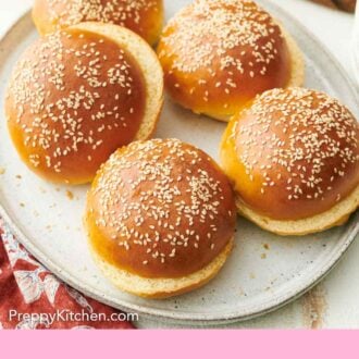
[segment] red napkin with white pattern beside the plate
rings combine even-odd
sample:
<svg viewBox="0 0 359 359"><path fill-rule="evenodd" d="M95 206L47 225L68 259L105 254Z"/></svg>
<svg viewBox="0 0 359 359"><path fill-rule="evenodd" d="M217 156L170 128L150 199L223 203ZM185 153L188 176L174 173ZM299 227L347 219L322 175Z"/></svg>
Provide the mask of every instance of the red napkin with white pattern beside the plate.
<svg viewBox="0 0 359 359"><path fill-rule="evenodd" d="M124 317L62 283L0 218L0 329L133 329Z"/></svg>

